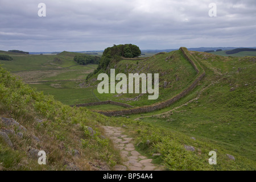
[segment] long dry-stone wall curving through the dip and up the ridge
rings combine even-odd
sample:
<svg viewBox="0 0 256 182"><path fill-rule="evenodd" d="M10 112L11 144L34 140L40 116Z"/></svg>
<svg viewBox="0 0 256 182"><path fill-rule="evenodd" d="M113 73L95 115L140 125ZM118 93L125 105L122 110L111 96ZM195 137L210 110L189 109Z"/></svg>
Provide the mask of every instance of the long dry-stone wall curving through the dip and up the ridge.
<svg viewBox="0 0 256 182"><path fill-rule="evenodd" d="M196 77L195 81L193 81L192 84L189 85L187 89L183 90L183 92L177 94L175 97L172 97L169 100L158 102L156 104L152 104L149 106L142 106L142 107L137 107L137 108L133 108L133 109L125 109L125 110L97 111L97 112L107 115L107 116L119 116L119 115L148 113L148 112L152 112L152 111L155 111L158 109L163 109L164 107L168 107L171 104L174 104L174 102L176 102L180 98L186 96L202 80L202 78L205 76L205 71L203 68L201 68L201 65L195 60L195 58L191 54L189 54L187 48L181 47L180 50L183 53L183 55L185 56L185 58L192 64L193 68L197 72L197 77ZM110 101L110 102L102 101L102 103L104 103L104 102L108 102L110 104L110 102L113 102L113 101ZM117 102L117 103L119 104L120 102ZM93 104L93 103L89 103L89 104ZM126 105L126 104L124 104L124 105ZM79 106L79 105L76 105L76 106ZM81 104L80 106L86 106L86 104Z"/></svg>

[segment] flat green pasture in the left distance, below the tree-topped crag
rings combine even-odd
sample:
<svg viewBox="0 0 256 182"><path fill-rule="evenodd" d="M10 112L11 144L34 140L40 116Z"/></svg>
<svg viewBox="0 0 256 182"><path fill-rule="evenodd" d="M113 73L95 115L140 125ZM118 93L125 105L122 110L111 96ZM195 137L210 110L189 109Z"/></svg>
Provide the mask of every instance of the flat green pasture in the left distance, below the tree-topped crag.
<svg viewBox="0 0 256 182"><path fill-rule="evenodd" d="M92 94L92 88L82 88L86 76L97 68L97 64L77 64L73 57L81 53L22 55L2 51L0 54L13 56L12 61L0 61L3 68L13 72L39 91L53 95L63 104L97 101Z"/></svg>

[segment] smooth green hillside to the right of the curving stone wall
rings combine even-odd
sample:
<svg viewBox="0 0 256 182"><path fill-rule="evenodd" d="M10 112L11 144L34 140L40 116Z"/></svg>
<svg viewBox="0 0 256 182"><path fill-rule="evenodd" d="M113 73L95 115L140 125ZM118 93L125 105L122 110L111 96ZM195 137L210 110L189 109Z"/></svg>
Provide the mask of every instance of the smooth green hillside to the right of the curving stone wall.
<svg viewBox="0 0 256 182"><path fill-rule="evenodd" d="M207 73L201 85L174 106L145 115L163 113L184 104L204 86L218 82L188 106L160 117L143 118L142 121L169 132L180 131L218 144L220 150L225 148L234 156L250 159L255 168L255 57L232 58L199 52L194 52L194 55ZM241 68L240 72L237 72L238 68ZM236 90L230 92L231 87Z"/></svg>

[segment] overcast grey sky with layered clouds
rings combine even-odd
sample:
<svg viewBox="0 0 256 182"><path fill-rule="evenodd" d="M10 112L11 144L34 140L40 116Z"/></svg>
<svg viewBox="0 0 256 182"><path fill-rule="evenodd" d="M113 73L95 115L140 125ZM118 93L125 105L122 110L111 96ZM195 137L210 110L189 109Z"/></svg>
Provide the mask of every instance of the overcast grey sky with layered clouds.
<svg viewBox="0 0 256 182"><path fill-rule="evenodd" d="M39 3L46 17L38 16ZM255 17L255 0L0 0L0 50L255 47Z"/></svg>

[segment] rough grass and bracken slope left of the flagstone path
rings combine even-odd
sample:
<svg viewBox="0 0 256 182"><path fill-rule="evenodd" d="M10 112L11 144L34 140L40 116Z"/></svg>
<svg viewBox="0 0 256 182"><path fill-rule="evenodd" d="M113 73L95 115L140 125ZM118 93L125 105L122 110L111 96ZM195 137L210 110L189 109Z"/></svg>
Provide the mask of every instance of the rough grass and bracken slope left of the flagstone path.
<svg viewBox="0 0 256 182"><path fill-rule="evenodd" d="M8 147L0 138L0 169L64 170L75 165L90 170L93 169L91 164L111 168L119 162L119 154L110 140L101 137L100 126L108 123L109 118L84 108L63 105L24 85L2 68L0 93L1 117L14 118L27 129L23 139L9 135L14 148ZM43 120L42 125L35 121L37 118ZM6 127L1 122L0 125L2 129ZM94 137L90 136L86 126L96 131ZM32 135L41 141L35 142ZM37 159L29 157L31 147L46 151L47 165L40 166ZM80 155L73 156L74 150Z"/></svg>

